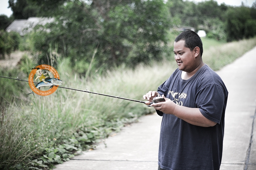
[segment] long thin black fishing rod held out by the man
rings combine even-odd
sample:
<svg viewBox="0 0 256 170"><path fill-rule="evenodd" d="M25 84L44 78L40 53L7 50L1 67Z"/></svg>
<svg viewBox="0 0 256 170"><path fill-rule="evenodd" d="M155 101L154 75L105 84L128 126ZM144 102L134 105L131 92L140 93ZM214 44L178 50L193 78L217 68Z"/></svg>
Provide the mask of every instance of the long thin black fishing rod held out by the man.
<svg viewBox="0 0 256 170"><path fill-rule="evenodd" d="M3 76L0 76L1 78L6 78L6 79L13 79L13 80L19 80L19 81L24 81L24 82L29 82L28 80L22 80L22 79L18 79L17 78L10 78L10 77L3 77ZM34 83L37 83L37 82L34 82ZM38 84L38 83L37 83ZM96 92L91 92L91 91L88 91L87 88L86 90L79 90L79 89L74 89L74 88L69 88L69 87L62 87L62 86L56 86L56 87L59 87L59 88L66 88L66 89L69 89L69 90L75 90L75 91L82 91L82 92L87 92L87 93L91 93L91 94L95 94L95 95L101 95L101 96L107 96L107 97L113 97L113 98L117 98L117 99L123 99L123 100L129 100L129 101L133 101L133 102L139 102L139 103L144 103L146 105L150 105L152 104L151 102L149 101L139 101L139 100L133 100L133 99L127 99L127 98L122 98L122 97L117 97L117 96L111 96L111 95L105 95L105 94L100 94L100 93L96 93Z"/></svg>

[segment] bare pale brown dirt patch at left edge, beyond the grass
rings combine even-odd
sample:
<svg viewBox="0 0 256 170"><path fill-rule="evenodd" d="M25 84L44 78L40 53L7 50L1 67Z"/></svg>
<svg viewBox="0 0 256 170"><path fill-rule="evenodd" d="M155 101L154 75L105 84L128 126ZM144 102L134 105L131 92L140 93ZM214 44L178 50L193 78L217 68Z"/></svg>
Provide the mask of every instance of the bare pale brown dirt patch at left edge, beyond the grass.
<svg viewBox="0 0 256 170"><path fill-rule="evenodd" d="M10 57L9 56L5 56L5 59L0 60L0 67L1 68L10 68L10 67L15 67L17 66L17 63L20 61L20 58L22 58L22 56L24 54L27 54L29 57L32 57L30 55L30 52L28 51L14 51L11 53Z"/></svg>

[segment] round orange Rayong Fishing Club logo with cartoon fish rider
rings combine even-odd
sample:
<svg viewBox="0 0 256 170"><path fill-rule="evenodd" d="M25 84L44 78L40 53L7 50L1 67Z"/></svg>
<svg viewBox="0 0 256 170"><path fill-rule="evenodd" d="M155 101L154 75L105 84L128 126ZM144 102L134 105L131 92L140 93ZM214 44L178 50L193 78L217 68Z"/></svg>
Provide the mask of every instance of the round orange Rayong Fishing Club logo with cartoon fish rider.
<svg viewBox="0 0 256 170"><path fill-rule="evenodd" d="M57 70L45 64L31 68L28 82L32 93L40 96L53 94L57 90L58 85L62 84Z"/></svg>

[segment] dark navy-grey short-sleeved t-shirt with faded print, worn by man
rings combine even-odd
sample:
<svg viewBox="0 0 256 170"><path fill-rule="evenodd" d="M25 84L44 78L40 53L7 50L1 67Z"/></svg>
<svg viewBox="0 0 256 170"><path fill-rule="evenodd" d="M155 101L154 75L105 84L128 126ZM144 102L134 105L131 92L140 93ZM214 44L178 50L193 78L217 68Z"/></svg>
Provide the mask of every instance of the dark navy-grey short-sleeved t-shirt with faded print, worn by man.
<svg viewBox="0 0 256 170"><path fill-rule="evenodd" d="M224 117L228 91L221 78L204 65L188 80L176 69L158 87L158 93L174 103L199 108L213 127L192 125L173 115L157 111L162 117L158 164L166 170L218 170L221 166Z"/></svg>

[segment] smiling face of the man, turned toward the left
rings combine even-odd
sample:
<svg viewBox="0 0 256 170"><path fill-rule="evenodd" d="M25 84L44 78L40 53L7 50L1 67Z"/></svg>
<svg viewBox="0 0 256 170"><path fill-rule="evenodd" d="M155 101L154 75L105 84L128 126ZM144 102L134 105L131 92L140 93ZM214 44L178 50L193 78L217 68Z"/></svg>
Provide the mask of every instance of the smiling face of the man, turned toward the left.
<svg viewBox="0 0 256 170"><path fill-rule="evenodd" d="M185 47L184 40L174 42L173 52L175 55L175 61L180 70L185 72L191 72L195 69L196 58L194 55L194 50L190 51L189 48Z"/></svg>

